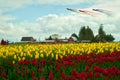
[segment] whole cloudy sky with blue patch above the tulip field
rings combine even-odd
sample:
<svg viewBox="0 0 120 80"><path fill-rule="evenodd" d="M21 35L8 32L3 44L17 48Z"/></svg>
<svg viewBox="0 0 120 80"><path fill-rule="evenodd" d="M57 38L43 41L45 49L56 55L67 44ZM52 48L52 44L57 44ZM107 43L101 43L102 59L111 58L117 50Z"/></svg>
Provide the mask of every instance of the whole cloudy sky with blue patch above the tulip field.
<svg viewBox="0 0 120 80"><path fill-rule="evenodd" d="M88 10L95 16L68 11L66 8ZM106 15L92 9L103 9ZM79 34L82 26L89 26L94 35L100 24L106 34L120 41L120 0L0 0L0 40L19 42L32 36L37 41L52 34L61 38Z"/></svg>

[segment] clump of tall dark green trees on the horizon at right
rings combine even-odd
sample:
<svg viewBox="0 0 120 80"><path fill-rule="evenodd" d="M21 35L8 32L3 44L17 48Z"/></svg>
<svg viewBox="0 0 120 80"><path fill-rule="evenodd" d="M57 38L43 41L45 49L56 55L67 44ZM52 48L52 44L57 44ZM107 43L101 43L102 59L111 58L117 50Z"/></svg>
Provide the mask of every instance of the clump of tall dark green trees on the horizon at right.
<svg viewBox="0 0 120 80"><path fill-rule="evenodd" d="M112 34L106 34L101 24L98 29L98 34L94 36L94 33L89 26L81 27L79 34L73 33L71 36L75 37L77 41L90 40L91 42L112 42L115 40Z"/></svg>

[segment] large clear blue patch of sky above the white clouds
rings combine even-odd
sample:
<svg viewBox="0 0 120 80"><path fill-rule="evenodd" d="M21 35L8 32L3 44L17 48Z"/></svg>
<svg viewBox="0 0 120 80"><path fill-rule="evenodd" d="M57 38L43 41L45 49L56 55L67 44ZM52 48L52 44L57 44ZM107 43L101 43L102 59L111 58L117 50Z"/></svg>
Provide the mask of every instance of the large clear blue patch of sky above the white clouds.
<svg viewBox="0 0 120 80"><path fill-rule="evenodd" d="M64 14L67 15L69 12L66 8L87 8L91 3L81 3L81 4L74 4L74 5L53 5L53 4L40 4L40 5L28 5L25 7L21 7L19 9L15 9L5 14L14 15L16 17L16 22L18 21L35 21L36 18L42 17L48 14Z"/></svg>

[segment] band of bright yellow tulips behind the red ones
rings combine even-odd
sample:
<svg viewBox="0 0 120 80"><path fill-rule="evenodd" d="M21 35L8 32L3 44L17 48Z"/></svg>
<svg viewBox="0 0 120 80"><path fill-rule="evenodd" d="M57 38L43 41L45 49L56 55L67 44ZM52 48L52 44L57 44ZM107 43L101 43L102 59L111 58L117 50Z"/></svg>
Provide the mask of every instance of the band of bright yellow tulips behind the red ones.
<svg viewBox="0 0 120 80"><path fill-rule="evenodd" d="M100 54L120 51L120 43L79 43L79 44L20 44L0 46L0 58L13 57L14 60L82 55L84 53Z"/></svg>

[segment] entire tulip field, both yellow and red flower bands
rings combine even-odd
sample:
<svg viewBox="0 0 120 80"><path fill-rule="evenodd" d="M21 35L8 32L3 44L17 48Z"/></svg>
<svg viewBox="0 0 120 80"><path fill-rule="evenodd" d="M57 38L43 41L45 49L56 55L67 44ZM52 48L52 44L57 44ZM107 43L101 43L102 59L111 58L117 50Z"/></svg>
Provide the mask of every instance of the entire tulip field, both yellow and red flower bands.
<svg viewBox="0 0 120 80"><path fill-rule="evenodd" d="M0 80L120 80L120 42L0 45Z"/></svg>

